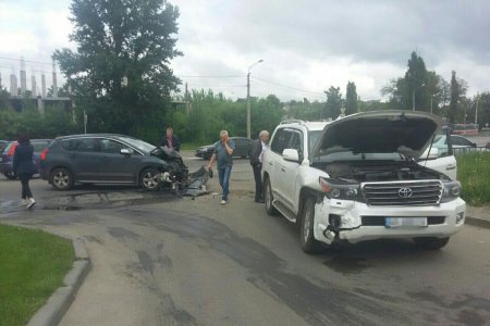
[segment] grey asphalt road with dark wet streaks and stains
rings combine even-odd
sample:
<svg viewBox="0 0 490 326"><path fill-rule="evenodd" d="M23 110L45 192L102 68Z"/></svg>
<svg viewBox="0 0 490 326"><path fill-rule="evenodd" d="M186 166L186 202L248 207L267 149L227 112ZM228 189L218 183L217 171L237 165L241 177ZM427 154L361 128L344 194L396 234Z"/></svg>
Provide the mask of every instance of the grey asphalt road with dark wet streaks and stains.
<svg viewBox="0 0 490 326"><path fill-rule="evenodd" d="M490 230L466 226L436 252L387 240L308 255L253 201L252 178L236 160L225 206L216 179L194 200L37 179L33 211L0 179L0 221L86 239L93 269L61 325L490 323Z"/></svg>

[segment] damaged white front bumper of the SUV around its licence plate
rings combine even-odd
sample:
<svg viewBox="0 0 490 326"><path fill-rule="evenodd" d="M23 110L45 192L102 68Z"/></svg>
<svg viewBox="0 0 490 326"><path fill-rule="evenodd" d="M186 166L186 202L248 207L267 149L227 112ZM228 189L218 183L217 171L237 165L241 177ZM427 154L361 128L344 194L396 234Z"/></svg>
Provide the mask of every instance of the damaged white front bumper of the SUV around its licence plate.
<svg viewBox="0 0 490 326"><path fill-rule="evenodd" d="M317 240L328 244L335 241L356 243L382 238L444 238L463 227L465 212L466 203L460 198L439 205L402 208L375 206L323 197L315 204L314 235ZM397 217L425 217L427 223L424 226L396 227L387 223Z"/></svg>

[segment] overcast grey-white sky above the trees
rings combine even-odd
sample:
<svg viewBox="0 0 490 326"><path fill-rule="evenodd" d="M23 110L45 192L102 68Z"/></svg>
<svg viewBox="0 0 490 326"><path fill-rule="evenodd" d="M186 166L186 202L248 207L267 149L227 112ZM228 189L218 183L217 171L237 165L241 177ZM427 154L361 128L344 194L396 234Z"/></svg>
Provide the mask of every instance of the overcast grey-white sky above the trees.
<svg viewBox="0 0 490 326"><path fill-rule="evenodd" d="M51 53L72 47L70 0L0 0L0 73L9 85L20 57L30 74L50 75ZM446 80L451 71L469 95L490 91L490 1L173 0L180 9L174 73L189 88L229 97L275 93L323 100L323 90L355 82L364 100L380 99L403 76L416 50ZM48 75L48 83L50 76ZM206 76L206 77L194 77ZM217 77L212 77L217 76ZM237 77L234 77L237 76ZM38 84L39 77L38 77ZM182 87L183 88L183 87Z"/></svg>

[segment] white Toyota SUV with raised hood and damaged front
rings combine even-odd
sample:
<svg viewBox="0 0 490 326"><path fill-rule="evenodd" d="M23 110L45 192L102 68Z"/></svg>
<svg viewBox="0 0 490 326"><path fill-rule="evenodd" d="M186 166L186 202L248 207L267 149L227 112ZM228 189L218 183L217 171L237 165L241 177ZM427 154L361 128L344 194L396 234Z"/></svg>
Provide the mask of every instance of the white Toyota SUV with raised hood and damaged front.
<svg viewBox="0 0 490 326"><path fill-rule="evenodd" d="M267 212L298 224L306 252L380 238L442 248L466 203L451 149L430 146L440 130L436 115L404 111L284 122L262 160Z"/></svg>

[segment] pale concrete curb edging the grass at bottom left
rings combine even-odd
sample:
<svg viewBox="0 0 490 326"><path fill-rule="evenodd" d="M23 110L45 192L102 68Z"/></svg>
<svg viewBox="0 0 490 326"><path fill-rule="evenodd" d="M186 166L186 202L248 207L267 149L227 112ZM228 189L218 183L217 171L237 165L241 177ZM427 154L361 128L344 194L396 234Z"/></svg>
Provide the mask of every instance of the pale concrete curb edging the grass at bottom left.
<svg viewBox="0 0 490 326"><path fill-rule="evenodd" d="M59 235L63 238L66 236ZM52 326L58 325L69 310L76 292L82 286L85 277L90 271L91 263L87 247L83 238L69 238L72 240L75 251L75 261L72 269L63 278L64 286L58 288L48 299L48 302L37 311L27 326Z"/></svg>

